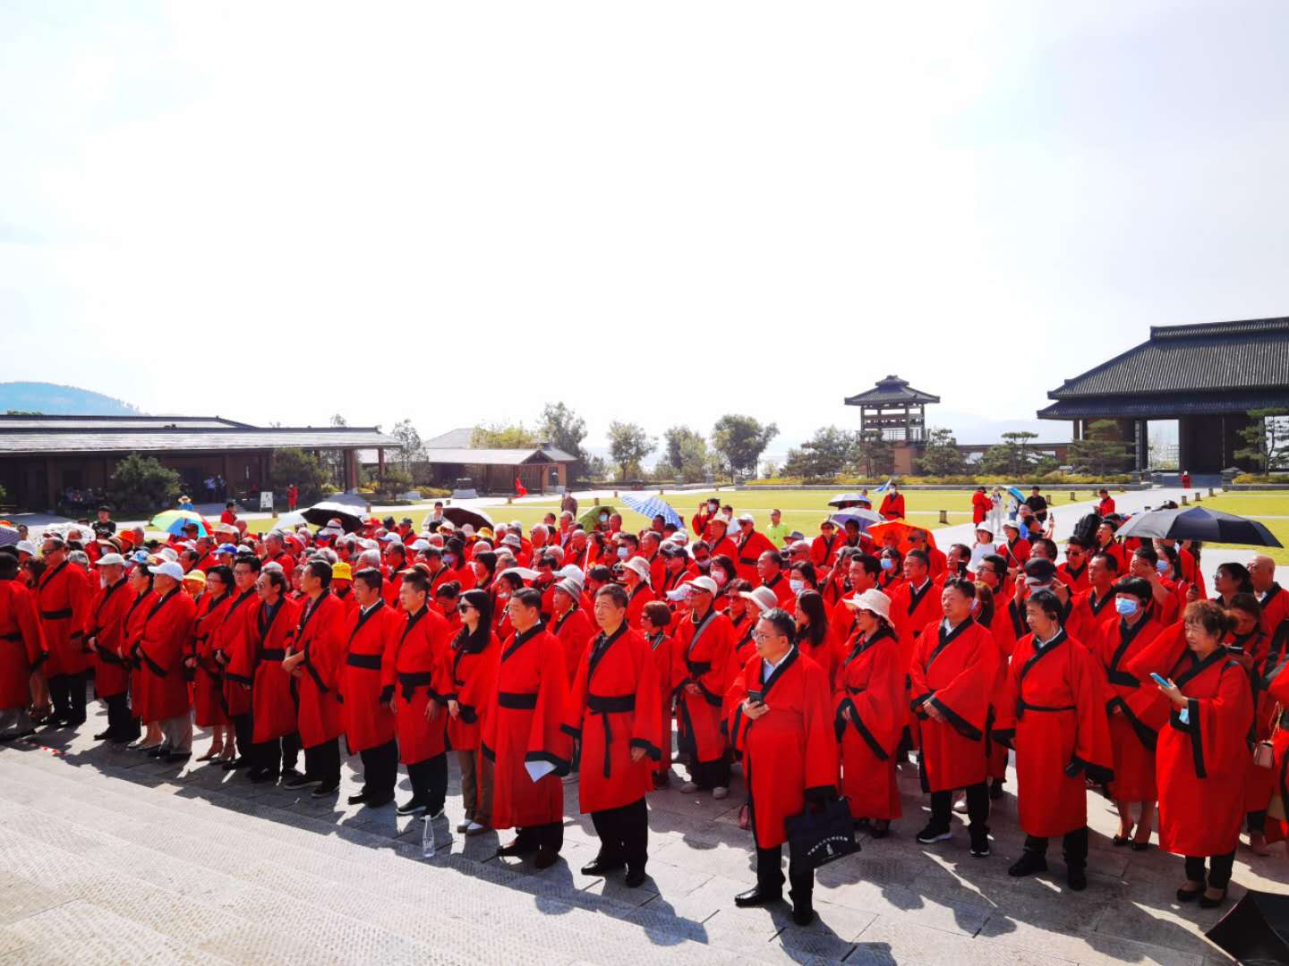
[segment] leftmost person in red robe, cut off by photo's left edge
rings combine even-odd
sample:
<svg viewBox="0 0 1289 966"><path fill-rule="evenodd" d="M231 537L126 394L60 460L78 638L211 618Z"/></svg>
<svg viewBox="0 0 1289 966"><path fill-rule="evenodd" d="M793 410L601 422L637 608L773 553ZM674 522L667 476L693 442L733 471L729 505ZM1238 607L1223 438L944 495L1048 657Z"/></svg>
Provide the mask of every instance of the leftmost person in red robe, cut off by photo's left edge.
<svg viewBox="0 0 1289 966"><path fill-rule="evenodd" d="M36 595L18 578L18 558L0 553L0 743L35 733L30 712L48 701L46 657Z"/></svg>

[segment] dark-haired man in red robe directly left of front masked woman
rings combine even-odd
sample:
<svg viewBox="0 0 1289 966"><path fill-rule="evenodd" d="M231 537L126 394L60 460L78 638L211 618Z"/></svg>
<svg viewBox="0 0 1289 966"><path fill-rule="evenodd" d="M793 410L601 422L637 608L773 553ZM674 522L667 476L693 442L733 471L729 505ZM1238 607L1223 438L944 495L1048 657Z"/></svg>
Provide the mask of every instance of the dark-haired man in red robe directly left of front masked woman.
<svg viewBox="0 0 1289 966"><path fill-rule="evenodd" d="M1048 838L1058 835L1066 882L1081 891L1088 887L1087 781L1110 781L1112 753L1101 666L1061 627L1063 612L1051 590L1025 601L1031 632L1012 652L1014 703L1000 708L1005 717L995 734L1016 748L1016 801L1026 836L1008 875L1045 872Z"/></svg>

